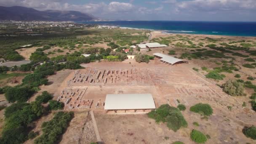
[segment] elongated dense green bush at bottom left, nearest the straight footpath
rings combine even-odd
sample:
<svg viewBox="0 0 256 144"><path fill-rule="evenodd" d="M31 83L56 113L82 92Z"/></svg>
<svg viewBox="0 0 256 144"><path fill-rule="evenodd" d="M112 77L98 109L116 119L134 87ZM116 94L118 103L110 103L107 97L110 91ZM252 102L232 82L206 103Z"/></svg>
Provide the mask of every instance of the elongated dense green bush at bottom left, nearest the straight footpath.
<svg viewBox="0 0 256 144"><path fill-rule="evenodd" d="M53 119L42 124L43 134L35 139L35 144L56 144L58 138L68 127L73 112L57 112Z"/></svg>

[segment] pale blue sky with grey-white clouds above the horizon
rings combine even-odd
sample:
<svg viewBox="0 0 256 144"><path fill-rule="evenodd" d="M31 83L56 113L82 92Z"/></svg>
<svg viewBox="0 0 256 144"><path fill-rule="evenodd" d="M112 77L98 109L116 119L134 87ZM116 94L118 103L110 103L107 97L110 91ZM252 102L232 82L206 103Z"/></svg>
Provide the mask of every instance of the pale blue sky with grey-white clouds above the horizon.
<svg viewBox="0 0 256 144"><path fill-rule="evenodd" d="M0 5L81 11L109 20L256 21L256 0L0 0Z"/></svg>

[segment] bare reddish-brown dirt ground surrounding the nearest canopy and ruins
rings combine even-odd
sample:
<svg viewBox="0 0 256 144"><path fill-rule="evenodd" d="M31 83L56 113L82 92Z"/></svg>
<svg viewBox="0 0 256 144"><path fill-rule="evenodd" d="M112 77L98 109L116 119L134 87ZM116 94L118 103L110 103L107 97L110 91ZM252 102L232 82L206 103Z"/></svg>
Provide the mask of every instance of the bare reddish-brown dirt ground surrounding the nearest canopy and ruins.
<svg viewBox="0 0 256 144"><path fill-rule="evenodd" d="M207 141L208 144L235 144L241 141L253 143L242 133L244 126L256 125L256 121L253 121L256 119L256 115L249 104L247 107L242 107L245 98L232 97L222 92L221 88L216 86L216 82L205 79L202 74L193 71L191 67L194 64L167 66L155 59L150 61L149 64L138 64L136 61L129 60L82 65L85 69L71 72L58 91L55 92L56 97L54 99L61 95L62 88L74 90L87 88L81 100L93 100L91 110L96 112L95 117L99 133L106 144L169 144L178 140L192 143L189 133L194 128L211 136L211 139ZM131 75L131 77L136 78L125 78L127 76L123 73L120 75L120 72L131 69L135 69L133 72L136 73L132 75L128 72L128 77ZM112 77L117 76L120 79L117 78L113 83L112 81L104 83L105 78L109 77L103 75L104 70L105 74L108 70L117 71L118 74L113 74ZM91 75L88 78L89 82L85 79L74 82L73 78L79 78L80 75ZM96 80L97 77L99 77L99 80ZM93 79L92 83L90 83L91 79ZM170 104L176 107L178 105L176 99L179 99L187 107L187 110L182 113L189 126L174 133L168 130L165 124L158 125L144 114L106 114L103 107L97 107L96 105L99 100L104 101L106 94L110 93L151 93L157 107L162 104ZM63 102L65 102L65 99ZM73 103L75 105L75 102L75 100L71 100L69 104ZM189 111L189 107L200 102L210 104L213 108L213 115L208 120L203 120L200 115ZM232 106L232 110L229 110L228 106ZM70 107L65 107L65 109L76 111L83 108L73 107L70 109ZM192 124L193 122L199 123L200 126L195 127ZM169 139L166 140L165 136Z"/></svg>

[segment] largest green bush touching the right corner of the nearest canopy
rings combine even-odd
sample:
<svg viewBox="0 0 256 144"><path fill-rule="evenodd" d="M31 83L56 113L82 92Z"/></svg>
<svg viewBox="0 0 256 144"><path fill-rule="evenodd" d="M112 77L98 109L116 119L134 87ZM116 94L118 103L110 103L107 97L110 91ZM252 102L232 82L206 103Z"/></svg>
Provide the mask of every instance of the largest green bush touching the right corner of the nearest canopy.
<svg viewBox="0 0 256 144"><path fill-rule="evenodd" d="M149 112L148 116L155 119L157 123L167 122L167 127L175 132L181 127L187 127L187 121L179 109L171 107L168 104L161 105L156 110Z"/></svg>

